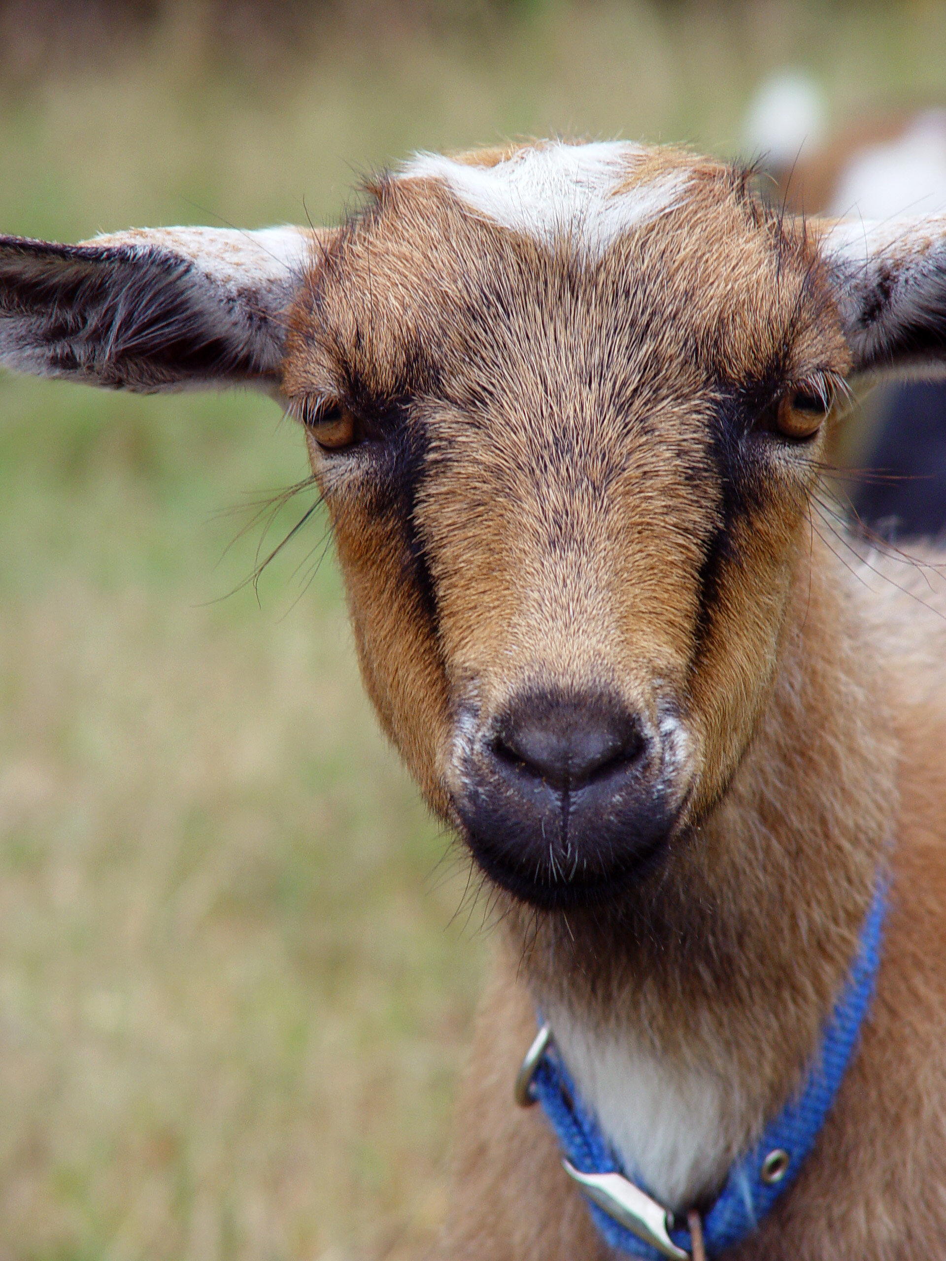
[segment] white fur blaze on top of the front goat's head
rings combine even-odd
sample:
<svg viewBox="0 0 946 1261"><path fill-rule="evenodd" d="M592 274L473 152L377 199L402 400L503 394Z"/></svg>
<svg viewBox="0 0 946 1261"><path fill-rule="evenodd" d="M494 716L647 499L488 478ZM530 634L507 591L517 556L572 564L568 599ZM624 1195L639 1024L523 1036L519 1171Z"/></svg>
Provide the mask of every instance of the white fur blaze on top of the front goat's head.
<svg viewBox="0 0 946 1261"><path fill-rule="evenodd" d="M689 182L685 170L632 183L646 153L641 145L622 141L555 141L518 149L494 166L418 154L401 178L443 180L470 209L513 232L545 245L574 240L590 253L600 253L624 232L681 200Z"/></svg>

